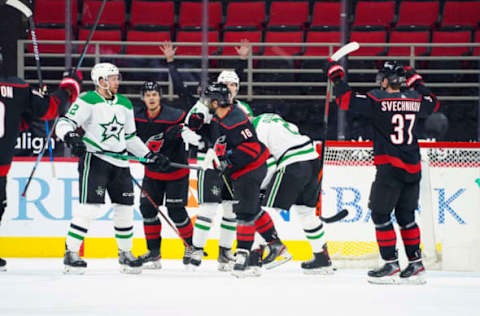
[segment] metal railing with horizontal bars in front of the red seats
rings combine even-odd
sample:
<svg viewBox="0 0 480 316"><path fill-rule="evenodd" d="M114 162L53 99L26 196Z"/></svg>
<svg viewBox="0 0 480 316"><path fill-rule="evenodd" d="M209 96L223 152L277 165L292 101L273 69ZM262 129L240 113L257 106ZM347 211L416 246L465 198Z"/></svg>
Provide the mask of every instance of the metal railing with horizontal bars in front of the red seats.
<svg viewBox="0 0 480 316"><path fill-rule="evenodd" d="M61 53L42 53L41 52L41 45L42 44L51 44L51 45L65 45L63 41L45 41L39 40L40 45L40 58L42 61L42 71L43 73L57 73L60 74L65 69L63 66L59 66L62 63L59 62L65 58L64 54ZM37 83L38 79L36 78L36 67L33 62L34 54L26 52L26 47L30 45L32 42L30 40L19 40L18 41L18 66L17 72L18 76L26 79L27 82ZM84 44L83 41L72 41L72 44L75 46ZM94 54L87 54L86 61L90 60L93 63L106 61L106 60L115 60L115 61L128 61L128 60L164 60L163 55L132 55L132 54L103 54L100 53L100 48L102 46L112 46L112 45L120 45L122 50L125 50L127 46L152 46L152 45L161 45L161 42L153 43L153 42L126 42L126 41L119 41L119 42L102 42L102 41L92 41L91 47L94 47L95 53ZM202 43L174 43L176 46L201 46ZM240 43L223 43L223 42L215 42L215 43L208 43L209 46L214 47L225 47L225 46L238 46ZM334 50L339 46L339 43L251 43L252 47L261 47L265 48L268 46L273 47L301 47L305 49L307 47L328 47L329 55L334 52ZM475 51L475 48L480 48L480 43L361 43L362 47L382 47L388 49L390 47L408 47L410 49L409 56L350 56L350 68L348 73L353 75L370 75L374 78L374 74L377 72L376 67L369 67L369 68L355 68L354 64L355 61L383 61L383 60L400 60L404 61L405 64L408 63L411 66L417 66L417 71L422 75L452 75L455 76L465 76L470 75L470 79L467 81L459 81L459 82L429 82L429 86L432 87L434 92L438 91L437 93L440 100L448 100L448 101L480 101L480 56L416 56L415 49L417 47L426 47L427 49L431 49L433 47L468 47L471 52ZM72 58L78 58L79 53L71 54ZM272 100L322 100L325 99L325 87L326 87L326 80L323 75L323 70L319 66L318 68L313 69L302 69L299 67L292 67L290 69L285 68L257 68L253 67L254 62L267 60L267 61L275 61L275 60L283 60L283 61L305 61L305 60L316 60L322 61L327 56L262 56L262 55L255 55L250 54L248 57L248 67L246 71L246 78L241 82L241 95L240 98L246 99L248 101L252 100L265 100L265 99L272 99ZM185 55L178 55L175 56L177 60L180 62L182 60L201 60L201 56L185 56ZM227 56L227 55L216 55L212 54L208 56L209 60L237 60L238 56ZM52 60L54 62L52 62ZM466 64L466 68L440 68L437 66L435 69L432 68L422 68L418 67L418 62L462 62ZM73 63L75 64L75 63ZM421 63L420 63L421 65ZM80 70L82 71L89 71L90 67L83 66ZM220 72L222 68L209 68L209 73L217 73ZM123 67L120 66L120 71L122 73L167 73L168 69L166 67ZM193 72L193 73L200 73L201 68L180 68L180 72ZM318 80L314 82L310 81L255 81L253 80L253 76L257 74L318 74ZM45 75L44 75L45 76ZM49 76L45 76L47 79L44 80L46 84L57 84L59 82L60 76L57 76L58 79L48 79ZM50 76L53 77L53 76ZM199 77L199 76L198 76ZM473 78L473 79L472 79ZM85 80L85 84L92 85L93 83L88 80L88 76ZM138 93L129 93L128 91L133 89L128 88L135 88L139 87L142 84L143 80L126 80L122 82L122 87L127 90L126 96L130 98L138 98ZM166 89L167 93L164 94L164 97L168 99L176 98L177 96L173 92L173 87L170 79L168 81L160 81L159 82L164 89ZM197 86L199 84L198 81L187 81L187 86ZM372 88L377 86L374 80L359 80L359 81L350 81L350 85L352 87L358 88ZM275 93L275 94L264 94L262 93L262 89L257 88L295 88L298 87L298 93L292 93L292 89L289 89L290 93ZM314 88L315 91L312 93L306 94L304 90L301 88ZM315 89L317 88L317 89ZM458 95L459 88L466 88L466 89L477 89L476 93L471 93L470 95ZM265 91L268 92L268 89ZM473 91L473 90L472 90Z"/></svg>

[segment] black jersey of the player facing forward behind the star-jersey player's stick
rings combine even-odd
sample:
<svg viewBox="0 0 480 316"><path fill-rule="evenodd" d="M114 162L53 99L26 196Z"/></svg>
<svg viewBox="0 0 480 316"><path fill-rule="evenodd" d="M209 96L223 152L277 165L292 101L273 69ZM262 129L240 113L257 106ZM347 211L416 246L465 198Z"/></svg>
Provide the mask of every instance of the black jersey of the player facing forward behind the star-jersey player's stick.
<svg viewBox="0 0 480 316"><path fill-rule="evenodd" d="M188 155L180 135L185 112L169 106L163 106L155 117L148 115L146 107L135 114L137 135L153 152L166 155L170 161L187 164ZM186 168L168 168L165 171L153 171L145 167L145 175L157 180L176 180L189 174Z"/></svg>

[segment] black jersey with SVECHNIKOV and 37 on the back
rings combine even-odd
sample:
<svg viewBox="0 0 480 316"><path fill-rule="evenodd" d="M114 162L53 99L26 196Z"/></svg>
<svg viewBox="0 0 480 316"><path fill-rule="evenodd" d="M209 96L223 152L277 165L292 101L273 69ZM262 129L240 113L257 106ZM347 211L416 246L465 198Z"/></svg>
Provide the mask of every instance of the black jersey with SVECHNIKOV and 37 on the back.
<svg viewBox="0 0 480 316"><path fill-rule="evenodd" d="M354 94L343 81L335 92L340 108L364 116L373 126L374 164L396 168L406 181L418 180L421 164L416 124L438 110L435 95L424 85L398 93L373 89Z"/></svg>

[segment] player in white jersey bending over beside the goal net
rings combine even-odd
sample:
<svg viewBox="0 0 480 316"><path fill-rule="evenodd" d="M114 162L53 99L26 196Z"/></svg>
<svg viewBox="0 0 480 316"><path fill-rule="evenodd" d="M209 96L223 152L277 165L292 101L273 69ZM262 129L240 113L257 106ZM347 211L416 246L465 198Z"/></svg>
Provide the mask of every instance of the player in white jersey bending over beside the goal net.
<svg viewBox="0 0 480 316"><path fill-rule="evenodd" d="M323 223L315 215L320 160L312 140L277 114L261 114L253 119L253 126L276 161L263 205L276 211L296 211L313 250L313 259L301 264L305 274L332 273Z"/></svg>

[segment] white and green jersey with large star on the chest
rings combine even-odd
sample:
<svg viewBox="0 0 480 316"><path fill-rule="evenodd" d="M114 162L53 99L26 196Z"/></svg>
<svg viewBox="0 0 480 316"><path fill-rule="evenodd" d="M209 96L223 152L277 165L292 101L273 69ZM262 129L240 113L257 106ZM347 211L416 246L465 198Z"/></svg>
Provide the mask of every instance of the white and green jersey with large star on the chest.
<svg viewBox="0 0 480 316"><path fill-rule="evenodd" d="M131 152L144 157L147 146L136 135L133 105L126 97L116 94L106 100L95 91L80 94L64 117L57 123L56 133L62 140L68 132L82 127L87 151ZM96 155L118 167L128 167L128 160Z"/></svg>

